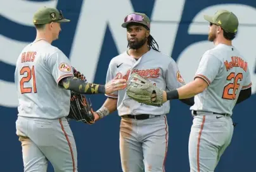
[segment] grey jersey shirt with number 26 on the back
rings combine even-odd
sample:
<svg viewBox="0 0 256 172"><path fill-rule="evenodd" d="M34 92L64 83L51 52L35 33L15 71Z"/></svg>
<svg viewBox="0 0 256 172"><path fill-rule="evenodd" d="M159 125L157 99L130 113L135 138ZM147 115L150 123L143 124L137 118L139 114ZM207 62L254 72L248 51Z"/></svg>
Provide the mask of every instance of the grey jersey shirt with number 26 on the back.
<svg viewBox="0 0 256 172"><path fill-rule="evenodd" d="M248 63L233 46L217 45L200 60L195 77L201 77L208 88L195 96L191 110L232 115L241 89L252 86Z"/></svg>

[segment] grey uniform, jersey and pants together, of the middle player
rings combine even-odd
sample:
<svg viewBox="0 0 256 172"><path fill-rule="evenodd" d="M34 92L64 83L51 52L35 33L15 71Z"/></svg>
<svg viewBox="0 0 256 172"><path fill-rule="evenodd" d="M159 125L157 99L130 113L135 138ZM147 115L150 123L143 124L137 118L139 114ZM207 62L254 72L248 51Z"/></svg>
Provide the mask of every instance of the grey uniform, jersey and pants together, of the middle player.
<svg viewBox="0 0 256 172"><path fill-rule="evenodd" d="M158 88L172 90L184 85L176 62L167 55L153 49L138 60L124 52L114 57L108 67L106 82L113 78L127 79L136 72L146 77ZM126 95L126 89L112 95L118 98L118 115L149 114L151 118L136 120L122 118L120 123L120 159L122 171L165 171L165 157L169 140L168 122L170 103L163 106L142 105ZM160 115L160 117L155 117Z"/></svg>

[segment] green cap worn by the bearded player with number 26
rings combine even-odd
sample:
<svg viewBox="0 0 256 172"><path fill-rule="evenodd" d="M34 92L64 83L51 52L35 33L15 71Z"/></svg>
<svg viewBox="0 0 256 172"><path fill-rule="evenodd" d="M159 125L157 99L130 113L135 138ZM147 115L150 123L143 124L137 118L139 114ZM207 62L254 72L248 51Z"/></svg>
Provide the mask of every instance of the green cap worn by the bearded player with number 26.
<svg viewBox="0 0 256 172"><path fill-rule="evenodd" d="M204 15L203 18L210 23L221 26L226 32L236 33L238 31L238 18L230 11L218 10L214 16Z"/></svg>

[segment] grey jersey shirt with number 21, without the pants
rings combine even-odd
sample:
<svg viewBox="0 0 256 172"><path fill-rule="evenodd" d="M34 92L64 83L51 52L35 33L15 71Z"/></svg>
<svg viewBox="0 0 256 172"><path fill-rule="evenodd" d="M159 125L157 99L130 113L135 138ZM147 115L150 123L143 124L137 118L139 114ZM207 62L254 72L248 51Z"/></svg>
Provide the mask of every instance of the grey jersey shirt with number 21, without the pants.
<svg viewBox="0 0 256 172"><path fill-rule="evenodd" d="M18 115L46 119L67 117L70 90L58 87L58 82L67 76L74 74L61 50L44 40L27 45L15 69Z"/></svg>

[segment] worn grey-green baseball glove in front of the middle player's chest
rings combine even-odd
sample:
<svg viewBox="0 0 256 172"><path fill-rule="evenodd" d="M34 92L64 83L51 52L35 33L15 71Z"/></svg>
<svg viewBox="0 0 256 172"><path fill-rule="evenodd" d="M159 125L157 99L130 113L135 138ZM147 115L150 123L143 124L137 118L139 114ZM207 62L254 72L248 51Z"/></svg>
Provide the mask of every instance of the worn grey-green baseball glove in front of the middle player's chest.
<svg viewBox="0 0 256 172"><path fill-rule="evenodd" d="M129 98L151 106L163 105L163 91L157 88L147 79L139 76L139 74L133 73L127 81L126 93ZM152 101L152 95L156 95L156 100Z"/></svg>

